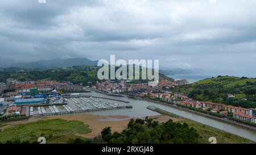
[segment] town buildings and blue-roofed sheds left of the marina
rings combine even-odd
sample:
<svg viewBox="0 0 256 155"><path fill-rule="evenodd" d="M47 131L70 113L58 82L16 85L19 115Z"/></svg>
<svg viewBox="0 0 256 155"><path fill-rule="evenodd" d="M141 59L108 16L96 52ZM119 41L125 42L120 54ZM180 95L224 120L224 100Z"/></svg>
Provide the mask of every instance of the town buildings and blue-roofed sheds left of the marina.
<svg viewBox="0 0 256 155"><path fill-rule="evenodd" d="M43 105L51 101L49 97L59 99L59 93L69 91L86 92L88 90L82 85L73 85L65 81L18 81L8 78L6 83L0 83L0 115L30 116L26 105Z"/></svg>

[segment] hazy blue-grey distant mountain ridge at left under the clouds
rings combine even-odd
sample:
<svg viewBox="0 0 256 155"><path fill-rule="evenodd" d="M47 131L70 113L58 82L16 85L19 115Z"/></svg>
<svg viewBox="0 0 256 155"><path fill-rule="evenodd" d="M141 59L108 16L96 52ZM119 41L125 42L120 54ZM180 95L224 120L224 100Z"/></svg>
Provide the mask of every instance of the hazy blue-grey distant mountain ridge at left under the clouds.
<svg viewBox="0 0 256 155"><path fill-rule="evenodd" d="M52 60L39 60L35 62L18 62L12 64L0 64L1 68L63 68L77 65L95 66L98 61L92 61L88 58L55 58Z"/></svg>

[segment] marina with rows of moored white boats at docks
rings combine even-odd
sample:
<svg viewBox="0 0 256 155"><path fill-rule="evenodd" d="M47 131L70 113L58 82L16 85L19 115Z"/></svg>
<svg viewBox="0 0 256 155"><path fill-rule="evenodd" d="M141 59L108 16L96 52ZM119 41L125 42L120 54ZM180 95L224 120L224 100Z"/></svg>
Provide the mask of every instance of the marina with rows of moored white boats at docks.
<svg viewBox="0 0 256 155"><path fill-rule="evenodd" d="M53 104L45 104L37 107L30 106L30 116L52 116L76 114L83 112L95 112L105 110L115 110L123 108L132 108L132 106L124 105L127 102L121 102L118 99L98 98L88 95L73 95L68 97L51 97ZM60 104L65 103L65 104Z"/></svg>

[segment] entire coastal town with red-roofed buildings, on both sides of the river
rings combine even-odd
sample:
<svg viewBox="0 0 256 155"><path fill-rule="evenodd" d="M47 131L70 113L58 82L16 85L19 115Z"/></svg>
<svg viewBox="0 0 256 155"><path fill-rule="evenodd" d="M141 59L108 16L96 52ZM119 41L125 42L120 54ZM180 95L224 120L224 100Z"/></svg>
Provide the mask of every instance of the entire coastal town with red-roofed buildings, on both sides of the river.
<svg viewBox="0 0 256 155"><path fill-rule="evenodd" d="M157 86L148 86L147 83L133 83L133 81L129 80L106 80L97 82L96 85L83 86L82 83L81 85L73 85L73 83L66 81L18 81L13 78L8 78L6 83L0 83L0 93L2 94L0 98L0 114L2 116L31 116L31 113L33 114L33 108L28 112L29 108L24 108L27 105L47 104L51 102L51 98L49 97L59 99L58 103L64 103L65 100L61 95L93 90L107 95L137 97L155 102L167 103L172 106L187 108L189 110L220 118L233 118L254 124L256 123L256 108L242 108L221 103L204 102L191 99L187 95L179 92L170 91L173 87L187 84L188 82L186 81L176 82L162 80L159 81ZM228 94L228 97L233 98L234 96ZM56 103L54 100L52 102ZM75 102L77 102L76 99ZM88 107L80 105L78 102L77 105L83 107L82 109L88 109ZM50 106L49 108L52 109L53 107ZM64 107L64 109L72 111L69 107ZM43 113L46 112L44 112L42 108L42 110L40 109L40 114Z"/></svg>

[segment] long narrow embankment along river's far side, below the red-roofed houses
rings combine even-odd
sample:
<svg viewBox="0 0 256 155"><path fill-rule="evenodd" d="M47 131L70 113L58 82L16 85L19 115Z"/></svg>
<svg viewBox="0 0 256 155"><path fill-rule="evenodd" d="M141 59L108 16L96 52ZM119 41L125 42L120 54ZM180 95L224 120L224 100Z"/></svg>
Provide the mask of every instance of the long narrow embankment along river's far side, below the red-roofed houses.
<svg viewBox="0 0 256 155"><path fill-rule="evenodd" d="M147 100L147 101L154 102L154 103L157 103L157 104L162 104L162 105L165 105L165 106L170 106L170 107L172 107L172 108L177 108L177 109L179 109L179 110L187 111L187 112L190 112L190 113L192 113L192 114L196 114L196 115L204 116L204 117L206 117L206 118L218 120L218 121L223 122L223 123L228 123L228 124L232 124L232 125L238 125L238 126L240 126L240 127L243 127L243 128L246 128L246 129L251 129L251 130L253 130L253 131L256 131L256 128L255 128L255 127L252 127L252 126L250 126L250 125L241 124L241 123L234 122L233 120L229 120L229 119L225 119L225 118L218 118L218 117L216 117L216 116L209 115L209 114L204 114L204 113L202 113L202 112L198 112L198 111L194 111L194 110L190 110L190 109L188 109L188 108L178 107L178 106L176 106L176 105L174 105L174 104L165 103L165 102L160 102L160 101L157 101L157 100L145 99L145 98L141 98L141 97L134 97L134 96L131 96L131 95L126 95L126 97L128 97L128 98L134 98L134 99Z"/></svg>

